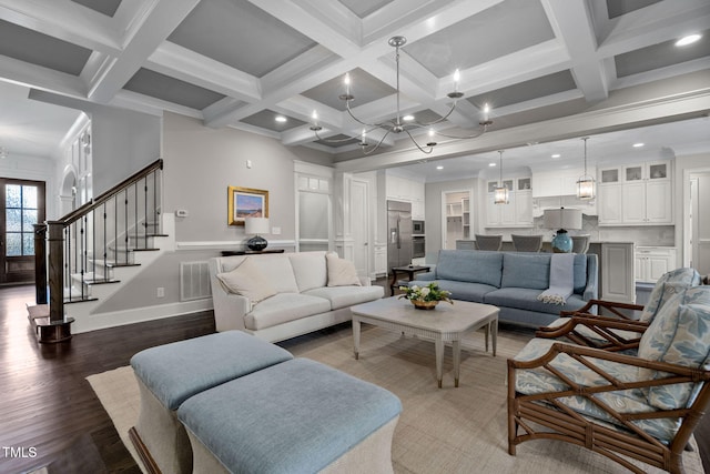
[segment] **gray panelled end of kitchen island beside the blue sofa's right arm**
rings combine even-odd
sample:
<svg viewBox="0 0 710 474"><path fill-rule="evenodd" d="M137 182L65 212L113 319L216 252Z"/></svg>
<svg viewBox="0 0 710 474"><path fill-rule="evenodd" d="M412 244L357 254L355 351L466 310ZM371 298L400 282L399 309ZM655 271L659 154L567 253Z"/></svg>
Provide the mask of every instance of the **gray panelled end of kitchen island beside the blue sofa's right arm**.
<svg viewBox="0 0 710 474"><path fill-rule="evenodd" d="M633 243L601 244L601 300L636 302Z"/></svg>

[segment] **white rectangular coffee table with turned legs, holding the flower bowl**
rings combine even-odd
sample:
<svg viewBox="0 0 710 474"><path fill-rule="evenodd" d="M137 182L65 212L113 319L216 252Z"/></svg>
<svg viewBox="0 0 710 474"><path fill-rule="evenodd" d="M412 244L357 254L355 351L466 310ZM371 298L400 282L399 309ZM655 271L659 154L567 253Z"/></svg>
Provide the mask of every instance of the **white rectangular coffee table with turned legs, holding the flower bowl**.
<svg viewBox="0 0 710 474"><path fill-rule="evenodd" d="M353 343L355 359L359 359L361 323L413 334L434 340L436 353L436 377L442 387L444 343L450 342L454 349L454 386L458 386L460 369L460 341L469 331L486 326L486 352L488 336L493 342L493 355L496 355L498 339L498 307L490 304L455 301L454 304L439 303L435 310L417 310L407 300L398 296L371 301L351 307L353 312Z"/></svg>

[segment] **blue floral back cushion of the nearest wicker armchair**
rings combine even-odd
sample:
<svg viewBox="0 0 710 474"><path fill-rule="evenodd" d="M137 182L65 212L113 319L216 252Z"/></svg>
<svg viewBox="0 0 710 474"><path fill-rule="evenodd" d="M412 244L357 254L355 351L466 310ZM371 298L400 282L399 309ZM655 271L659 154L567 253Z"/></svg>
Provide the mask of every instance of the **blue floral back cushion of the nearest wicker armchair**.
<svg viewBox="0 0 710 474"><path fill-rule="evenodd" d="M686 289L658 312L639 343L639 357L688 367L710 363L710 286ZM662 372L639 369L639 376L661 379ZM648 390L649 403L661 410L688 406L700 387L673 384Z"/></svg>

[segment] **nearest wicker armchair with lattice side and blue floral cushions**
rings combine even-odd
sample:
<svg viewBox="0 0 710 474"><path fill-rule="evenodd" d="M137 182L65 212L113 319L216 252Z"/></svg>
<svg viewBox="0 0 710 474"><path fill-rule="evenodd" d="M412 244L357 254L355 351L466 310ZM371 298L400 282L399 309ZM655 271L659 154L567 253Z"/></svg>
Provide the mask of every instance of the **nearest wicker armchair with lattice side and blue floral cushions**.
<svg viewBox="0 0 710 474"><path fill-rule="evenodd" d="M571 316L567 324L642 336L628 343L630 354L532 339L508 360L508 452L559 440L635 473L646 470L633 461L682 473L682 452L710 406L710 288L680 291L650 323Z"/></svg>

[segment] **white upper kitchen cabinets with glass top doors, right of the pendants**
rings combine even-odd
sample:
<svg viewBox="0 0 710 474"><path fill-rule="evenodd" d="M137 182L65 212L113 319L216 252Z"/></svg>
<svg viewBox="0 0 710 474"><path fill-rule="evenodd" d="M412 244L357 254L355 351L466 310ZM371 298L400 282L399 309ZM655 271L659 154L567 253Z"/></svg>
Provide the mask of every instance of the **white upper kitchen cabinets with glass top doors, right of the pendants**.
<svg viewBox="0 0 710 474"><path fill-rule="evenodd" d="M599 225L672 224L670 161L599 170Z"/></svg>

